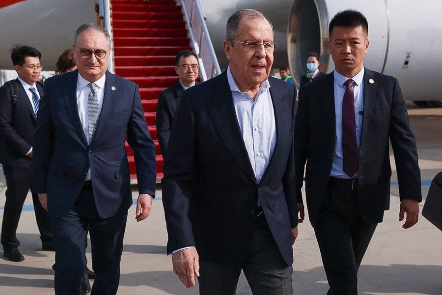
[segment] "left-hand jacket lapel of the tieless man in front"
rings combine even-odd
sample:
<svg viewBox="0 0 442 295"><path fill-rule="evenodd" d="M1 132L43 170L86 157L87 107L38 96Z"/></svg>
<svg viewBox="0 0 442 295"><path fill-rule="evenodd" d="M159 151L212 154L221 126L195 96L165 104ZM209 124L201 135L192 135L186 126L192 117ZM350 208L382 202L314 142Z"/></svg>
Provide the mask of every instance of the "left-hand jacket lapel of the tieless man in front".
<svg viewBox="0 0 442 295"><path fill-rule="evenodd" d="M235 160L244 169L246 174L256 182L256 177L250 164L249 154L244 144L243 136L238 125L232 92L227 82L227 73L219 76L218 89L207 99L209 109L215 119L215 124Z"/></svg>

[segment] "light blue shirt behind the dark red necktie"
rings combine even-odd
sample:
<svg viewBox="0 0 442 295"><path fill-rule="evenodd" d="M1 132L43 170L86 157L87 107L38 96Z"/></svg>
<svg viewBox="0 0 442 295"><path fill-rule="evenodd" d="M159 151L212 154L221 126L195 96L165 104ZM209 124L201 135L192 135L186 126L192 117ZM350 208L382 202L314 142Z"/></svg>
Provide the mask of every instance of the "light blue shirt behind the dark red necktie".
<svg viewBox="0 0 442 295"><path fill-rule="evenodd" d="M334 76L334 112L336 114L336 135L335 135L335 146L334 146L334 156L333 165L331 167L331 177L338 178L357 178L358 173L354 176L349 177L343 168L342 161L342 100L345 93L345 81L349 78L342 76L338 72L333 72ZM355 83L353 84L353 91L355 93L355 115L356 115L356 143L358 144L358 155L359 155L359 145L360 145L360 131L362 128L362 117L364 110L364 67L351 78Z"/></svg>

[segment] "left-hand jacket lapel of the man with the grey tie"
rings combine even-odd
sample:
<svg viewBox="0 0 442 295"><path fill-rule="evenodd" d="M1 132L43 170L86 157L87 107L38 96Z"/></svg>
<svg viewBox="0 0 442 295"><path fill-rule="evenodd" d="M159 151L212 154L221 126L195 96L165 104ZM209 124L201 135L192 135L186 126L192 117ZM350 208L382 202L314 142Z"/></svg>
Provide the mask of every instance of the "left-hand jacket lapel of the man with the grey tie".
<svg viewBox="0 0 442 295"><path fill-rule="evenodd" d="M77 77L78 71L75 70L71 73L64 74L66 83L62 84L62 90L64 94L64 102L66 104L67 113L74 125L78 137L82 140L85 146L88 146L86 137L84 136L82 122L80 121L80 115L78 114L77 105Z"/></svg>

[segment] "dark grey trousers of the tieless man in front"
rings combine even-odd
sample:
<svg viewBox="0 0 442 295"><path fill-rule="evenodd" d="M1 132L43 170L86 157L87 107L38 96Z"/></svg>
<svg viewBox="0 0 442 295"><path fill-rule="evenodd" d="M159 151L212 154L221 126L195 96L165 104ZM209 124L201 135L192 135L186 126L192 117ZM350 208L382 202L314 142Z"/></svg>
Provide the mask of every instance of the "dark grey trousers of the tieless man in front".
<svg viewBox="0 0 442 295"><path fill-rule="evenodd" d="M200 295L234 295L241 269L253 295L292 295L292 266L287 266L265 219L255 223L250 253L243 266L199 262Z"/></svg>

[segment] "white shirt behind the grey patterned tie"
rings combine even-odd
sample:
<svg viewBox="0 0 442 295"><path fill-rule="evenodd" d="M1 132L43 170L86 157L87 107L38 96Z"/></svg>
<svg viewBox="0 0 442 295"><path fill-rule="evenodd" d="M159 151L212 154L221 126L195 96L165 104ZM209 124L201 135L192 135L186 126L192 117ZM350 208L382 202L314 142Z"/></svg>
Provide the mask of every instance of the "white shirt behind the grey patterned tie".
<svg viewBox="0 0 442 295"><path fill-rule="evenodd" d="M98 96L98 112L101 113L101 108L103 107L103 99L104 99L104 86L106 82L106 75L103 75L100 79L94 82L95 91ZM80 122L82 123L83 133L86 137L86 140L89 138L89 125L88 125L88 117L87 117L87 99L89 93L91 91L89 87L89 81L84 79L80 73L77 77L77 107L78 107L78 115L80 117ZM90 144L90 143L89 143ZM90 168L87 171L86 180L90 180Z"/></svg>

